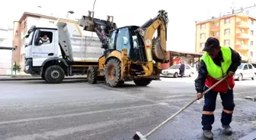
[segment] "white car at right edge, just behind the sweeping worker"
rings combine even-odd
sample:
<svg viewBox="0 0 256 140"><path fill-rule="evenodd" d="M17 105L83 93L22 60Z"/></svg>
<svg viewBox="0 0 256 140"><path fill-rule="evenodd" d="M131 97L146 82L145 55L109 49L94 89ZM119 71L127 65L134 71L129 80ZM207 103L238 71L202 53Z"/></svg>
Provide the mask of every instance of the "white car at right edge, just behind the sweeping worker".
<svg viewBox="0 0 256 140"><path fill-rule="evenodd" d="M238 70L236 70L234 79L238 79L238 81L242 81L242 79L251 78L253 80L256 79L256 68L252 64L242 63Z"/></svg>

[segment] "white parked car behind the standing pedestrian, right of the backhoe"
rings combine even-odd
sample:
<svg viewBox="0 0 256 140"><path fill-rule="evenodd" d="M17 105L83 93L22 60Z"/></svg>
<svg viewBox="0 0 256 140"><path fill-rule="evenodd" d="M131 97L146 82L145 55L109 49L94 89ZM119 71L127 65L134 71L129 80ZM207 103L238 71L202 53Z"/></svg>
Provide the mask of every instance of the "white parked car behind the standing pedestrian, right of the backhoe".
<svg viewBox="0 0 256 140"><path fill-rule="evenodd" d="M174 64L171 67L169 67L167 70L162 70L162 75L164 76L174 76L174 78L177 78L178 76L181 76L180 68L181 64ZM185 73L184 76L193 76L195 73L197 73L196 68L191 67L188 64L185 64Z"/></svg>

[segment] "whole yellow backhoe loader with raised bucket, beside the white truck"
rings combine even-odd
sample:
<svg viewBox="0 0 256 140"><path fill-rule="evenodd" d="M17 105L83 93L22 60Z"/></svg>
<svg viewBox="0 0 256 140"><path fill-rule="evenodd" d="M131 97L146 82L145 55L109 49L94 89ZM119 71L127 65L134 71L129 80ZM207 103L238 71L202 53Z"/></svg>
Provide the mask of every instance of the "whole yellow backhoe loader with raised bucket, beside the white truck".
<svg viewBox="0 0 256 140"><path fill-rule="evenodd" d="M158 16L142 26L117 28L109 20L104 25L104 20L100 21L85 16L80 20L84 30L92 31L90 26L94 26L104 48L98 67L88 69L89 83L97 82L98 76L104 76L111 87L132 80L137 86L147 86L153 79L160 79L161 64L168 62L165 51L168 17L165 11L159 11ZM106 33L106 29L113 30ZM158 36L153 39L155 32Z"/></svg>

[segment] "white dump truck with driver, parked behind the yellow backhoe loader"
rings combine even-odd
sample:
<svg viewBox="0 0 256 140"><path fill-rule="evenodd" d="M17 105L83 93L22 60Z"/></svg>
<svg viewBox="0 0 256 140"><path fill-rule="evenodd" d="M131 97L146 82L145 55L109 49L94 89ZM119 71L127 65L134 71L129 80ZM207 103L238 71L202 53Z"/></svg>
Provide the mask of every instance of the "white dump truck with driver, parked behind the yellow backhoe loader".
<svg viewBox="0 0 256 140"><path fill-rule="evenodd" d="M54 28L31 26L25 45L24 72L59 83L65 76L85 75L98 67L104 49L98 36L72 20L57 20Z"/></svg>

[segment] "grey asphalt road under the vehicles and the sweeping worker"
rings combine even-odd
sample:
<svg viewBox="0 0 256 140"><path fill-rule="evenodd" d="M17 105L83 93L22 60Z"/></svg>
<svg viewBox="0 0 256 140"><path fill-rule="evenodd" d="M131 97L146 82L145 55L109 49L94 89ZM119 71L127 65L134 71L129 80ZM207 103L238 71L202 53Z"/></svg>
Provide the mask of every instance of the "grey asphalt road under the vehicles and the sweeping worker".
<svg viewBox="0 0 256 140"><path fill-rule="evenodd" d="M146 134L195 97L192 78L154 81L148 87L128 82L111 89L69 80L0 82L0 139L4 140L128 140ZM217 140L238 139L256 130L256 81L236 82L232 136L222 134L218 97L213 125ZM200 125L203 100L158 129L149 140L204 139Z"/></svg>

